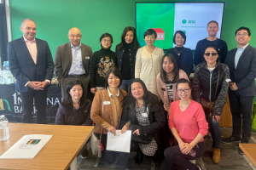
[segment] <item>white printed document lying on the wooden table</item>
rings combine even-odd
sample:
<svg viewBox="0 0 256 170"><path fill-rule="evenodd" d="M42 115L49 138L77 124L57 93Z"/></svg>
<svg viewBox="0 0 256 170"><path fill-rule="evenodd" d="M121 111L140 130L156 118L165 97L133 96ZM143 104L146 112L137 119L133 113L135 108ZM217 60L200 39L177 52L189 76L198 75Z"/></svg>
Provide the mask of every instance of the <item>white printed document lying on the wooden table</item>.
<svg viewBox="0 0 256 170"><path fill-rule="evenodd" d="M28 134L9 148L0 159L32 159L51 139L52 135Z"/></svg>

